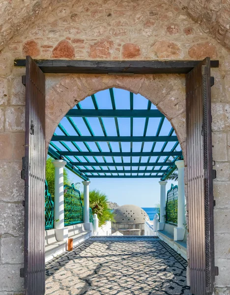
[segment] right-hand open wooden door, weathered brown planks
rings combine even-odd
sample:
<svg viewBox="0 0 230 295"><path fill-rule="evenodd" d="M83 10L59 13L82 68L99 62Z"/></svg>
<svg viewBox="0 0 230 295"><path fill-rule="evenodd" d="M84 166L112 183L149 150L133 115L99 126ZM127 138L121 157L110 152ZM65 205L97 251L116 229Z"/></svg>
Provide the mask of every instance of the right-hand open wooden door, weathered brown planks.
<svg viewBox="0 0 230 295"><path fill-rule="evenodd" d="M210 58L186 75L191 293L215 292Z"/></svg>

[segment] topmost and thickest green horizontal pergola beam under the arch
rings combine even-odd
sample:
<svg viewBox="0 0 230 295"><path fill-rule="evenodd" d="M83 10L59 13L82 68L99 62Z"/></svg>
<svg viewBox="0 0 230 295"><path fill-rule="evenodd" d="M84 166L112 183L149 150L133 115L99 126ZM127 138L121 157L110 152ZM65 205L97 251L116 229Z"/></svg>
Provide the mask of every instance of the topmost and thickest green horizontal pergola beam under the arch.
<svg viewBox="0 0 230 295"><path fill-rule="evenodd" d="M72 109L65 117L96 117L96 118L164 118L158 110L87 110Z"/></svg>

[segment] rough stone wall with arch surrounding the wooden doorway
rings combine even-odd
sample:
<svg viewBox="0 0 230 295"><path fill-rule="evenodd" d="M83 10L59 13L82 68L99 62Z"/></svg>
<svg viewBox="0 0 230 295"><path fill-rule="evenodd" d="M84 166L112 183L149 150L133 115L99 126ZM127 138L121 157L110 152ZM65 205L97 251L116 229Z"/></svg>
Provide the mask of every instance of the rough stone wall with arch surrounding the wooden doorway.
<svg viewBox="0 0 230 295"><path fill-rule="evenodd" d="M20 294L23 279L24 68L13 60L43 59L220 60L212 69L215 256L219 294L230 294L230 55L184 11L164 1L58 2L0 53L0 294ZM47 146L60 119L89 94L109 87L141 93L171 121L186 158L183 75L46 75ZM186 161L186 159L185 159ZM186 163L185 163L186 164ZM186 173L185 173L186 174Z"/></svg>

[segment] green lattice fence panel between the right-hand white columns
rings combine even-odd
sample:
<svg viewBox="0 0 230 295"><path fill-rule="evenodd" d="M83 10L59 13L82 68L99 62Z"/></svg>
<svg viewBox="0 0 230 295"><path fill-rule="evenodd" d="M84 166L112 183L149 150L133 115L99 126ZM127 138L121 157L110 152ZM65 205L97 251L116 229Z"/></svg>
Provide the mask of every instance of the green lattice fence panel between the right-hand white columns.
<svg viewBox="0 0 230 295"><path fill-rule="evenodd" d="M171 185L171 189L167 192L166 201L166 222L177 224L177 200L178 187Z"/></svg>

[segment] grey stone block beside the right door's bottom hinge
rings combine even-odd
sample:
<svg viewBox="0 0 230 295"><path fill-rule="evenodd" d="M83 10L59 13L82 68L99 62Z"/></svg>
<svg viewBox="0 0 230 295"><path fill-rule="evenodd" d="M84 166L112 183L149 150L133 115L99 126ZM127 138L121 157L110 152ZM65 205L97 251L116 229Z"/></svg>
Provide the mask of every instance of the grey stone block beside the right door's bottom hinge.
<svg viewBox="0 0 230 295"><path fill-rule="evenodd" d="M215 266L219 267L219 275L216 276L217 287L230 287L230 259L216 258Z"/></svg>

